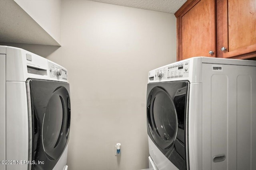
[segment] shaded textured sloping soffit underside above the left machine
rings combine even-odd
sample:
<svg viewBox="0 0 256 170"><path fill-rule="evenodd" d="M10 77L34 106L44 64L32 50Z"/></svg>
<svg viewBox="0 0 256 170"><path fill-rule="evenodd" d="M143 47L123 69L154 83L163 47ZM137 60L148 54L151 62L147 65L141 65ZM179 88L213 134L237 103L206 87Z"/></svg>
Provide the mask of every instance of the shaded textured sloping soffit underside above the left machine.
<svg viewBox="0 0 256 170"><path fill-rule="evenodd" d="M14 0L0 0L0 42L60 46Z"/></svg>

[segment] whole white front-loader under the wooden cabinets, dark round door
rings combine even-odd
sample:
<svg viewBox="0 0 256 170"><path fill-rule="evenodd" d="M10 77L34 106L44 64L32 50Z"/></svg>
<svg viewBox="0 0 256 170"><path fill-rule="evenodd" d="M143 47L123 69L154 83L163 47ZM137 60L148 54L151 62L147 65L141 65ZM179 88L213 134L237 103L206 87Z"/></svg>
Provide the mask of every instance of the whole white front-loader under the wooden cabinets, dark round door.
<svg viewBox="0 0 256 170"><path fill-rule="evenodd" d="M146 113L159 170L256 169L256 61L193 57L151 70Z"/></svg>

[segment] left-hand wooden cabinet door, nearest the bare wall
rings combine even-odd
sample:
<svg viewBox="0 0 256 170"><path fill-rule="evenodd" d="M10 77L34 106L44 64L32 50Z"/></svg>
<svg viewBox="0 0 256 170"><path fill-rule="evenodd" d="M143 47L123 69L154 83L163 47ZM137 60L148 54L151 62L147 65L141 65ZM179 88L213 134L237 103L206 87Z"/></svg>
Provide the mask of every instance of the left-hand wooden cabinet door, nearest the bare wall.
<svg viewBox="0 0 256 170"><path fill-rule="evenodd" d="M216 57L215 0L188 0L175 16L177 60Z"/></svg>

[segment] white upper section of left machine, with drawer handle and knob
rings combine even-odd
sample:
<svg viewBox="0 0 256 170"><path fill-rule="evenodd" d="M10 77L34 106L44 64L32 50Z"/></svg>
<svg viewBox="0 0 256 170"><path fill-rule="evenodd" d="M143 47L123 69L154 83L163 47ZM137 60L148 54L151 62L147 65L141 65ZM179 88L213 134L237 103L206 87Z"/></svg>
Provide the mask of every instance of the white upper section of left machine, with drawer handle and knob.
<svg viewBox="0 0 256 170"><path fill-rule="evenodd" d="M63 66L24 49L1 46L0 54L6 55L6 81L28 79L68 82L68 71Z"/></svg>

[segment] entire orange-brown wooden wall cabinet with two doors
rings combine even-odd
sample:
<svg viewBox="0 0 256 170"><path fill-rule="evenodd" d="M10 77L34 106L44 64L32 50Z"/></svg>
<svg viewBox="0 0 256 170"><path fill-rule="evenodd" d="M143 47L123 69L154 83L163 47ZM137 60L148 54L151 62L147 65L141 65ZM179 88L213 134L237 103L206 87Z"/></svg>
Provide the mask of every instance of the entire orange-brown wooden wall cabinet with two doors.
<svg viewBox="0 0 256 170"><path fill-rule="evenodd" d="M256 57L256 0L188 0L175 16L177 61Z"/></svg>

